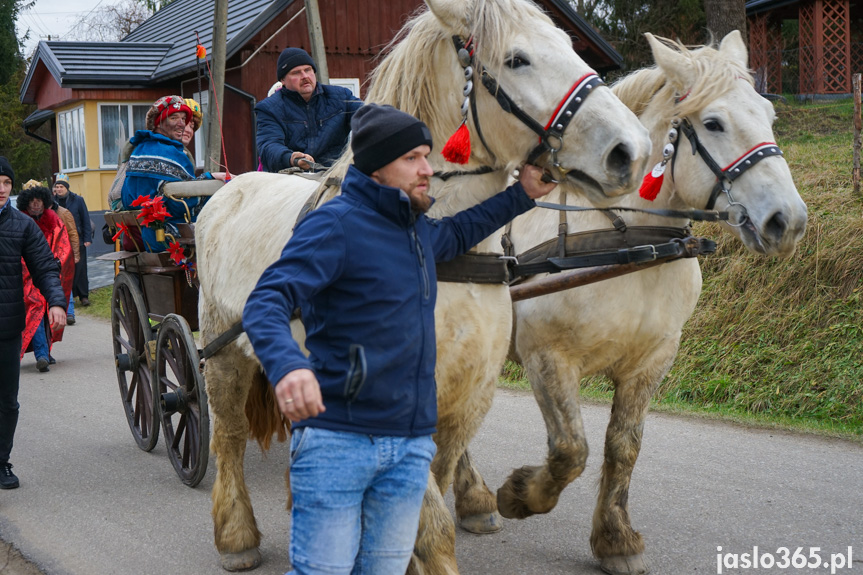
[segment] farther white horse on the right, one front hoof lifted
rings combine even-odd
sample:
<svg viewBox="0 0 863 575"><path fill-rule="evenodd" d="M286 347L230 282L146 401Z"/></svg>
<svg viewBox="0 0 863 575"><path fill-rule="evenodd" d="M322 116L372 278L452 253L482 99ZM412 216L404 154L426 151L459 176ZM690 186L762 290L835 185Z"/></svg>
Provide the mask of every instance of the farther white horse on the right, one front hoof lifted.
<svg viewBox="0 0 863 575"><path fill-rule="evenodd" d="M806 205L785 160L771 155L778 147L761 146L774 141L774 111L753 88L740 34L726 36L718 49L691 51L647 38L656 67L629 75L613 90L650 130L651 166L669 143L672 120L680 122L681 133L656 201L633 194L615 205L704 209L715 203L731 214L723 229L749 250L790 256L806 226ZM695 135L683 133L689 125ZM705 156L696 153L696 140ZM723 179L733 182L716 188L707 156L717 169L728 167ZM711 201L714 191L718 197ZM686 219L619 213L630 227L688 225ZM555 237L558 217L537 208L517 218L516 252ZM569 213L567 226L583 232L609 228L609 220L596 212ZM498 490L501 514L524 518L550 511L582 473L588 448L579 382L591 374L608 376L614 399L590 544L604 571L646 572L644 541L629 520L629 482L650 397L671 368L700 292L701 271L693 258L515 304L515 349L543 413L549 452L544 465L514 470Z"/></svg>

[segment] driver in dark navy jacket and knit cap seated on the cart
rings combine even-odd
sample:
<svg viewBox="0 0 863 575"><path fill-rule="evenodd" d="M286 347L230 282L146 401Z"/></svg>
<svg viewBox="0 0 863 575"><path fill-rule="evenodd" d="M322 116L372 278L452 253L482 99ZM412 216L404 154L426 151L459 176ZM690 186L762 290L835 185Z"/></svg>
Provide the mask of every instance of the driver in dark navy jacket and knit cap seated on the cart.
<svg viewBox="0 0 863 575"><path fill-rule="evenodd" d="M363 102L341 86L318 84L314 60L302 48L285 48L276 79L282 88L255 106L258 155L266 172L331 166Z"/></svg>

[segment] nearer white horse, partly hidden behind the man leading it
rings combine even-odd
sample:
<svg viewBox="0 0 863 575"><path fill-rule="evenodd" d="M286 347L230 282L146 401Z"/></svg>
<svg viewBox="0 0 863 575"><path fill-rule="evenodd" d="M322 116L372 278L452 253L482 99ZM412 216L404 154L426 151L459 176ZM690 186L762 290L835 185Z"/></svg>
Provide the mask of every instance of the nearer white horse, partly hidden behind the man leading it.
<svg viewBox="0 0 863 575"><path fill-rule="evenodd" d="M429 126L435 141L431 164L445 173L432 183L437 202L431 216L454 214L499 192L528 157L594 199L636 189L650 153L647 130L598 85L569 37L533 3L427 0L427 5L430 10L406 24L403 40L394 42L375 71L367 99L394 105ZM467 49L460 61L461 44ZM465 57L471 51L472 59ZM462 103L469 92L466 79L473 83L473 104ZM463 167L447 163L439 152L462 122L462 110L472 149ZM329 175L341 176L349 162L346 153ZM250 173L207 203L196 225L204 345L240 320L248 294L278 258L315 186L296 176ZM490 238L477 250L500 253L499 239ZM508 290L503 284L442 283L435 319L438 451L412 565L424 573L457 573L455 528L442 493L491 405L512 327ZM301 340L301 326L292 327ZM223 567L250 568L260 562L261 534L243 479L246 439L256 438L266 448L275 431L284 438L284 421L245 336L208 359L204 373L217 456L215 544ZM484 484L459 492L458 499L467 528L499 529L495 497Z"/></svg>

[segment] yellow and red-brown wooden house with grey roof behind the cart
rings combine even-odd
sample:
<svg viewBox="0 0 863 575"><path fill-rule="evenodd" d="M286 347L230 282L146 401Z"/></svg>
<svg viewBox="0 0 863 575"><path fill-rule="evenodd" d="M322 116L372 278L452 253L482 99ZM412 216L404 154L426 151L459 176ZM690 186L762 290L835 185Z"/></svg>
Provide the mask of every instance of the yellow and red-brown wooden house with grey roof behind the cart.
<svg viewBox="0 0 863 575"><path fill-rule="evenodd" d="M538 0L599 73L622 64L567 0ZM225 155L232 173L257 167L254 106L276 82L281 51L299 46L311 53L302 0L230 0L224 102ZM363 83L380 51L421 0L321 0L330 83L363 95ZM32 130L50 122L55 172L69 175L72 189L91 209L107 209L107 191L125 141L142 129L147 109L166 94L195 98L207 110L207 74L195 47L211 52L214 0L175 0L120 42L40 42L21 86L21 101L38 110L25 120ZM199 168L206 127L194 142ZM221 158L222 164L225 158Z"/></svg>

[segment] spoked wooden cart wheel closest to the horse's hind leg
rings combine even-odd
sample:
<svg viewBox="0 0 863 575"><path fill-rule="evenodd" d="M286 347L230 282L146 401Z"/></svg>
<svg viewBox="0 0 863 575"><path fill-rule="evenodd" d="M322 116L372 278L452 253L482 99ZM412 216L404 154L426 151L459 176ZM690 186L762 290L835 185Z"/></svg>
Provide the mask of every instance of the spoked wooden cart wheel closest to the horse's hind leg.
<svg viewBox="0 0 863 575"><path fill-rule="evenodd" d="M153 394L161 398L159 418L168 457L183 483L194 487L207 472L210 415L198 348L189 324L169 314L156 338Z"/></svg>

